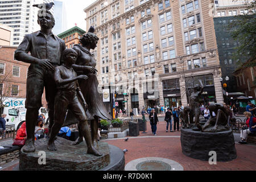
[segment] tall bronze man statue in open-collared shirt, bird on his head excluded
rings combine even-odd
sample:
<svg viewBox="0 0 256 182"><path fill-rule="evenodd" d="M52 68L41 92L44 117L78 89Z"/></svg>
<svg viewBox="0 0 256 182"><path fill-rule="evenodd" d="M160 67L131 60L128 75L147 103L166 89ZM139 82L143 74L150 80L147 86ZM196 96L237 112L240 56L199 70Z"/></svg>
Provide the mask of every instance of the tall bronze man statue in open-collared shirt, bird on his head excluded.
<svg viewBox="0 0 256 182"><path fill-rule="evenodd" d="M35 151L35 124L38 119L38 110L42 106L44 88L49 109L49 132L51 132L56 94L54 69L61 65L61 55L65 49L63 40L52 34L55 19L50 11L39 10L38 24L41 27L40 31L24 36L22 43L15 51L16 60L30 63L25 102L27 140L23 147L24 152Z"/></svg>

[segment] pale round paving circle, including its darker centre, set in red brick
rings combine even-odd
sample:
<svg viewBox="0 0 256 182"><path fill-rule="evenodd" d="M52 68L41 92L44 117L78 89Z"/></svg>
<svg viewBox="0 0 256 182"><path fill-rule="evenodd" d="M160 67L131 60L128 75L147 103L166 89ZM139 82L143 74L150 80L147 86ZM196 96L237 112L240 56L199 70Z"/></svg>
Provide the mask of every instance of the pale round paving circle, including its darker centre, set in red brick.
<svg viewBox="0 0 256 182"><path fill-rule="evenodd" d="M125 171L183 171L174 160L164 158L141 158L127 163Z"/></svg>

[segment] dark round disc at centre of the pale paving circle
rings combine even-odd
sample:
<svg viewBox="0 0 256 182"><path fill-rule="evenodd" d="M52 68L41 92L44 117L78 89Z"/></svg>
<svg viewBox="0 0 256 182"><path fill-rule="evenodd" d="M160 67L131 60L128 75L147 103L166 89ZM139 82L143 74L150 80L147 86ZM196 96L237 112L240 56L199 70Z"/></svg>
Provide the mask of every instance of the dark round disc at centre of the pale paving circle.
<svg viewBox="0 0 256 182"><path fill-rule="evenodd" d="M137 164L138 171L171 171L171 166L159 160L147 160Z"/></svg>

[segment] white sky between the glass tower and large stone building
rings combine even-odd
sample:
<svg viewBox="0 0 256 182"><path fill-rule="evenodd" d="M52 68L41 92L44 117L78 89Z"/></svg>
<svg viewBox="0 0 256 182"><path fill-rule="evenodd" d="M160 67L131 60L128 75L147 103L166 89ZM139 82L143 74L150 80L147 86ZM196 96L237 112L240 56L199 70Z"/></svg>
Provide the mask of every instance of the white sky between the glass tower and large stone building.
<svg viewBox="0 0 256 182"><path fill-rule="evenodd" d="M67 30L69 28L77 27L82 28L82 30L88 31L86 28L86 13L84 12L85 7L88 7L93 2L97 0L58 0L65 3L65 8L67 12ZM64 30L65 31L65 30Z"/></svg>

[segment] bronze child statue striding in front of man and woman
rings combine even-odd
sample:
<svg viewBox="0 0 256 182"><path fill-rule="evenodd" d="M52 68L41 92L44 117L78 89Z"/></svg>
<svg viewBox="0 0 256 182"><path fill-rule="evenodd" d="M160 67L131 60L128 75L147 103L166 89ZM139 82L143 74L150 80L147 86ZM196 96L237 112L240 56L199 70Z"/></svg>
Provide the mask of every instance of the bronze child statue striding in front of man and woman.
<svg viewBox="0 0 256 182"><path fill-rule="evenodd" d="M92 146L92 138L86 118L86 102L82 96L77 80L87 80L88 76L79 75L72 68L72 64L76 63L77 52L74 49L65 49L63 51L64 64L55 68L54 80L57 86L57 94L55 96L55 122L52 126L51 135L48 141L48 150L57 150L54 144L56 135L59 133L61 126L64 123L67 109L73 113L73 115L79 121L81 133L85 138L88 150L88 154L94 154L100 156L100 152ZM79 101L82 100L84 107Z"/></svg>

